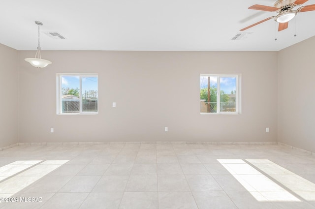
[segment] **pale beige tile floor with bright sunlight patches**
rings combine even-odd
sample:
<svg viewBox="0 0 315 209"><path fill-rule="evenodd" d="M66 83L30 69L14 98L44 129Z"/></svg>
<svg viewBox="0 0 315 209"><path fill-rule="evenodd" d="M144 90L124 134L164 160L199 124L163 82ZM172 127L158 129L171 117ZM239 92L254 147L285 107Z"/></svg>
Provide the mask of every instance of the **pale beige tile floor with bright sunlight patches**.
<svg viewBox="0 0 315 209"><path fill-rule="evenodd" d="M281 145L17 146L0 151L0 197L10 201L0 209L315 209L315 156Z"/></svg>

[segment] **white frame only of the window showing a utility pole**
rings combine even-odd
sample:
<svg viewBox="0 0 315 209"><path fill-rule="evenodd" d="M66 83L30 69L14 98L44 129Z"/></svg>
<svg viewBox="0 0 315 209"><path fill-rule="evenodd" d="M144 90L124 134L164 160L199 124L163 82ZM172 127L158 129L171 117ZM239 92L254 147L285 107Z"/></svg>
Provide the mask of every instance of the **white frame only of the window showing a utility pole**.
<svg viewBox="0 0 315 209"><path fill-rule="evenodd" d="M241 114L241 74L200 74L205 77L217 77L217 112L216 113L200 113L201 115L239 115ZM199 77L199 80L200 80ZM235 90L235 112L221 112L220 102L220 78L221 77L235 77L236 78L236 90ZM200 84L199 84L200 94ZM199 99L200 102L200 99Z"/></svg>

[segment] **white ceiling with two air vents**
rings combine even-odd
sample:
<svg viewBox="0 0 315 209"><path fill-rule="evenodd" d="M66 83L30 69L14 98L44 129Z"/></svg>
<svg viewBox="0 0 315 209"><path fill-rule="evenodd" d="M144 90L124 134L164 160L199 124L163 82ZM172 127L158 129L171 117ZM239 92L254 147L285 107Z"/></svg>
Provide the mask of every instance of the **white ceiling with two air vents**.
<svg viewBox="0 0 315 209"><path fill-rule="evenodd" d="M315 35L315 11L301 12L277 31L276 12L250 10L276 0L0 0L0 43L36 50L279 51ZM315 4L309 0L303 5ZM298 7L295 7L296 9ZM56 40L43 32L57 31ZM296 36L294 36L296 34ZM277 37L277 41L275 38Z"/></svg>

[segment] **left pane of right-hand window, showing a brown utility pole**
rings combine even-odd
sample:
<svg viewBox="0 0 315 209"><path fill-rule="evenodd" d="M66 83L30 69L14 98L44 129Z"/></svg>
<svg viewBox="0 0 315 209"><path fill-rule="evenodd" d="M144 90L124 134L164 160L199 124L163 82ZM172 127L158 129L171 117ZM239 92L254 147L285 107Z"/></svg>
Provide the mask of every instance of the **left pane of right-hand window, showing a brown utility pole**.
<svg viewBox="0 0 315 209"><path fill-rule="evenodd" d="M200 112L217 113L218 77L200 76Z"/></svg>

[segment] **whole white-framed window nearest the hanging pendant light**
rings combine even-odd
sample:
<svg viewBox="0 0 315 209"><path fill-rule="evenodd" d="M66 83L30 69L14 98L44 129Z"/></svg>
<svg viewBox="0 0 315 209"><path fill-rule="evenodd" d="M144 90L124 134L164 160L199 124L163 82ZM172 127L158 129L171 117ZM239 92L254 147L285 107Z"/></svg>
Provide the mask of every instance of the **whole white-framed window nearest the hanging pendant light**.
<svg viewBox="0 0 315 209"><path fill-rule="evenodd" d="M57 74L57 114L97 113L97 74Z"/></svg>

